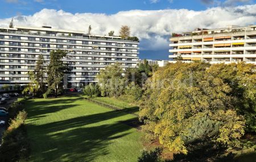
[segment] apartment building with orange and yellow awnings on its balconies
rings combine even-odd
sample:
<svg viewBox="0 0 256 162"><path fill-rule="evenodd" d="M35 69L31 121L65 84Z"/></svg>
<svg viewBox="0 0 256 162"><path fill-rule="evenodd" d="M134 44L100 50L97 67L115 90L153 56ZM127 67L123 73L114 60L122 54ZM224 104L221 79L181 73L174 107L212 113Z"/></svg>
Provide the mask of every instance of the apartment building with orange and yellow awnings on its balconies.
<svg viewBox="0 0 256 162"><path fill-rule="evenodd" d="M213 30L200 29L170 38L171 59L202 60L209 63L246 61L256 64L256 25L228 26ZM180 57L180 58L181 58Z"/></svg>

